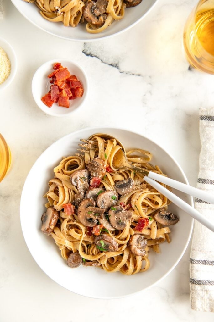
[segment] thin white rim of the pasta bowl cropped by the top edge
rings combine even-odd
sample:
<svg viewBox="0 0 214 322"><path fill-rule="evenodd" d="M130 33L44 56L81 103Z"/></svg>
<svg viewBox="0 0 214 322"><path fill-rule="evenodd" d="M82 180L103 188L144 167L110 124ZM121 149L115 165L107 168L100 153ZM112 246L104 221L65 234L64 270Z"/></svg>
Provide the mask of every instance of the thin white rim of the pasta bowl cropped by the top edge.
<svg viewBox="0 0 214 322"><path fill-rule="evenodd" d="M17 7L15 0L11 0L11 1L12 1L13 5L16 7L16 9L23 15L23 17L25 17L25 19L27 19L31 24L33 24L34 26L38 27L39 29L45 31L46 33L49 33L50 35L58 37L58 38L61 38L61 39L66 39L66 40L70 40L70 41L74 41L74 42L87 42L87 43L97 41L97 40L101 40L101 39L108 39L110 37L114 37L116 35L119 35L119 34L123 33L126 30L129 30L130 28L132 28L136 24L138 24L150 12L150 10L153 9L153 7L158 3L158 0L155 0L155 2L150 6L150 8L139 19L137 19L133 24L127 26L126 28L124 28L124 29L122 29L120 31L117 31L116 33L113 33L113 34L107 35L107 36L100 36L100 37L94 38L94 39L93 38L92 39L88 39L88 38L74 39L74 38L69 38L69 37L66 37L66 36L56 35L55 33L52 33L51 31L46 30L45 28L39 26L38 24L33 22L27 15L22 13L22 11L19 9L19 7ZM87 34L87 32L86 32L86 34ZM100 34L102 34L102 33L100 33Z"/></svg>

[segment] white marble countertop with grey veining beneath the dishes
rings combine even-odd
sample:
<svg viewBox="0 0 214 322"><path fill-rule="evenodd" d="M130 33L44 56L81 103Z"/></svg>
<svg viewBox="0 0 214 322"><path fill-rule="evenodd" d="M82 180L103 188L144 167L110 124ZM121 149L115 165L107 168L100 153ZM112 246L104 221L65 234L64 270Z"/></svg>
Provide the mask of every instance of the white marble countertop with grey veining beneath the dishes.
<svg viewBox="0 0 214 322"><path fill-rule="evenodd" d="M88 126L119 125L148 136L177 159L190 184L196 185L198 111L213 104L214 89L213 76L189 69L182 50L184 23L195 3L159 0L129 31L74 43L39 30L4 1L0 36L12 44L18 71L0 94L0 132L14 159L0 185L1 322L133 321L139 313L150 321L213 321L212 313L190 309L190 246L176 268L149 290L116 300L84 298L39 268L24 242L19 217L22 186L35 160L58 138ZM57 57L79 63L90 82L86 104L69 118L45 115L31 94L34 72Z"/></svg>

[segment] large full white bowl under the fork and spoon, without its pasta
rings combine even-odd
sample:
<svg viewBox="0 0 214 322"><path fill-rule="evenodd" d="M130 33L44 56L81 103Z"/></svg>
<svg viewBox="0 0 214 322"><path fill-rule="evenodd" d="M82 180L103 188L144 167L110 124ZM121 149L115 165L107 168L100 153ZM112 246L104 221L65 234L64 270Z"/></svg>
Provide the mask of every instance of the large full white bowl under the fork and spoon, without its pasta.
<svg viewBox="0 0 214 322"><path fill-rule="evenodd" d="M35 261L59 285L87 297L120 298L151 287L175 268L189 243L193 219L174 204L169 206L169 209L179 217L179 222L170 226L171 243L160 244L159 254L150 251L150 268L145 272L125 276L120 272L107 273L98 267L69 268L61 257L54 239L41 232L41 215L44 213L46 203L43 195L48 190L48 181L53 177L53 168L59 164L61 156L75 154L80 138L88 138L95 133L107 133L118 138L126 149L139 147L149 150L153 154L152 164L158 165L170 178L188 184L183 170L175 159L150 139L123 129L83 129L53 143L31 168L21 194L21 227ZM176 194L193 206L191 196L178 191ZM30 215L29 209L31 209Z"/></svg>

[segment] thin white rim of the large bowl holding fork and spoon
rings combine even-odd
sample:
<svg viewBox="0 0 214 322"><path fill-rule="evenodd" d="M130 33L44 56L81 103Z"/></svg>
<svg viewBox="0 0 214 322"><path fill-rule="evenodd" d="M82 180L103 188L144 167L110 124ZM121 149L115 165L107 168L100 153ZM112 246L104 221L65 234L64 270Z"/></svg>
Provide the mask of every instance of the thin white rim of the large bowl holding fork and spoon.
<svg viewBox="0 0 214 322"><path fill-rule="evenodd" d="M58 140L56 140L55 142L53 142L49 147L47 147L41 154L40 156L36 159L36 161L34 162L33 166L31 167L26 179L25 179L25 182L24 182L24 185L23 185L23 188L22 188L22 192L21 192L21 200L20 200L20 222L21 222L21 230L22 230L22 234L23 234L23 237L24 237L24 240L25 240L25 243L27 245L27 248L28 248L28 244L26 242L26 239L25 239L25 235L24 235L24 225L23 225L23 221L22 221L22 216L21 216L21 208L22 208L22 204L24 204L24 200L23 200L23 191L24 191L24 188L25 188L25 185L26 185L26 182L27 182L27 178L30 174L30 172L33 170L35 164L37 163L37 160L39 160L42 155L48 151L56 142L59 142L60 140L63 140L64 138L66 137L69 137L71 134L78 134L78 133L81 133L82 131L95 131L94 133L96 133L96 129L100 129L101 127L100 126L96 126L96 127L87 127L87 128L81 128L79 130L76 130L76 131L73 131L61 138L59 138ZM172 158L172 160L175 162L176 166L178 166L179 170L181 171L183 177L184 177L184 181L186 184L189 185L189 182L188 182L188 179L183 171L183 169L181 168L181 166L179 165L179 163L175 160L175 158L165 149L165 148L162 148L158 143L156 143L154 140L150 139L149 137L145 137L144 135L140 134L139 132L135 132L135 131L132 131L130 129L126 129L126 128L121 128L121 127L105 127L103 126L103 128L108 128L109 130L122 130L122 131L126 131L126 132L130 132L132 134L137 134L137 135L140 135L141 137L143 138L146 138L148 140L150 140L152 143L154 143L155 145L157 145L158 147L160 147L162 150L164 150L164 152L170 157ZM194 207L194 202L193 202L193 197L190 196L190 205L192 207ZM138 290L138 291L134 291L130 294L126 294L126 295L121 295L121 296L104 296L104 297L101 297L101 296L98 296L98 297L95 297L95 296L88 296L88 295L84 295L84 294L80 294L80 293L77 293L77 292L74 292L74 291L71 291L70 289L67 289L65 286L61 285L58 281L52 279L51 277L49 277L49 275L46 273L45 270L43 270L41 268L41 266L39 265L39 263L37 262L37 260L35 260L33 254L31 253L30 249L28 248L28 250L30 251L30 254L31 256L33 257L33 259L35 260L35 262L37 263L37 265L39 266L39 268L51 279L53 280L55 283L57 283L58 285L60 285L61 287L63 287L64 289L67 289L69 290L70 292L74 293L74 294L77 294L77 295L81 295L81 296L84 296L86 298L95 298L95 299L117 299L117 298L125 298L125 297L128 297L128 296L131 296L131 295L134 295L134 294L139 294L140 292L143 292L145 291L146 289L150 289L151 287L155 286L156 284L158 284L161 280L163 280L165 277L167 277L167 275L169 275L171 273L172 270L174 270L174 268L176 267L176 265L179 263L179 261L182 259L183 255L184 255L184 252L186 251L187 249L187 246L190 242L190 239L191 239L191 236L192 236L192 232L193 232L193 224L194 224L194 219L191 218L191 225L190 225L190 231L189 231L189 234L187 236L187 241L185 243L185 246L184 246L184 249L183 251L181 252L180 256L178 257L178 259L175 261L174 265L166 272L166 274L164 274L161 278L159 278L157 281L155 281L154 283L150 284L149 286L145 287L144 289L141 289L141 290Z"/></svg>

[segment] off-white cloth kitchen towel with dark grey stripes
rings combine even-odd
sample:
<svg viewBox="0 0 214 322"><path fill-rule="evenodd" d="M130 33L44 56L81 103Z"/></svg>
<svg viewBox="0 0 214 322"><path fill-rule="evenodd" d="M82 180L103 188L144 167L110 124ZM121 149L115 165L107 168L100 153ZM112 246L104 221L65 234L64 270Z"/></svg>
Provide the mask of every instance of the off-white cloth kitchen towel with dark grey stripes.
<svg viewBox="0 0 214 322"><path fill-rule="evenodd" d="M214 193L214 108L200 109L201 153L197 188ZM214 222L214 205L195 199L195 209ZM214 312L214 233L195 221L190 253L190 302Z"/></svg>

